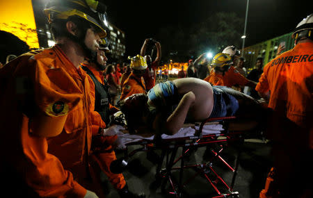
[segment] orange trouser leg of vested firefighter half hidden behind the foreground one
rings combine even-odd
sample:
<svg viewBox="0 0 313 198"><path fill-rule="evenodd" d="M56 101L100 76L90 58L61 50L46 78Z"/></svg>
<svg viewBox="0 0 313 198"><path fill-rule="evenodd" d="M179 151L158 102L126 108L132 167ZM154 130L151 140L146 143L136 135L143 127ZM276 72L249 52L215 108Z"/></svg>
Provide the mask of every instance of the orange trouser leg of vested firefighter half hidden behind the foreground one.
<svg viewBox="0 0 313 198"><path fill-rule="evenodd" d="M104 151L104 152L96 152L92 155L93 160L97 162L100 169L106 176L108 176L109 181L114 186L114 188L120 190L124 188L126 185L126 181L124 179L124 176L122 174L113 174L110 171L110 165L113 160L116 160L115 152L114 151Z"/></svg>

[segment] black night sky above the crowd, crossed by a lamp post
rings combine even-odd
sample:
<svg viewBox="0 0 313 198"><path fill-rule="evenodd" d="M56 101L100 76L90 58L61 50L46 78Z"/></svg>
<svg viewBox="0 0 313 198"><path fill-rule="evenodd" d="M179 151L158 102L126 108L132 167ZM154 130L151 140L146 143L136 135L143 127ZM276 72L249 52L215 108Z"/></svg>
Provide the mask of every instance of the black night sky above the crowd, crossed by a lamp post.
<svg viewBox="0 0 313 198"><path fill-rule="evenodd" d="M179 25L183 29L215 12L234 12L245 19L246 0L104 1L108 18L127 35L127 55L139 53L145 38L155 38L159 28ZM313 13L312 1L250 0L246 44L274 38L294 30ZM242 33L243 33L242 26ZM173 38L175 39L175 38Z"/></svg>

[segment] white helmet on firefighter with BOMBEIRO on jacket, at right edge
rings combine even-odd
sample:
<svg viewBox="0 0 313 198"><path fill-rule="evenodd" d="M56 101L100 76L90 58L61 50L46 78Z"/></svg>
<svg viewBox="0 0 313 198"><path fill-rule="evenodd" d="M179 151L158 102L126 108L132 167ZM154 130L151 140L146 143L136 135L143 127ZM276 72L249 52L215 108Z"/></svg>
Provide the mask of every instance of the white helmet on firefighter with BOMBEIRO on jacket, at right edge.
<svg viewBox="0 0 313 198"><path fill-rule="evenodd" d="M298 26L296 26L296 29L294 30L294 33L292 33L291 37L294 39L298 39L301 37L310 37L311 32L313 29L313 14L308 15L305 19L303 19Z"/></svg>

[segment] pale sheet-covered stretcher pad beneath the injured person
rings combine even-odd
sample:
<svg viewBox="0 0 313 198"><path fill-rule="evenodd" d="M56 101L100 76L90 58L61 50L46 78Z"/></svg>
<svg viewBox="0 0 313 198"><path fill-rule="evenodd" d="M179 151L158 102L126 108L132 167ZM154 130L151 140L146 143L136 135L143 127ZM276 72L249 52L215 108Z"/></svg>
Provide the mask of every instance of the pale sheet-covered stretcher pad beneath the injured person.
<svg viewBox="0 0 313 198"><path fill-rule="evenodd" d="M199 124L184 124L184 126L179 129L177 133L174 135L166 135L162 134L162 139L173 139L173 138L186 138L186 137L193 137L195 136L195 131L199 130ZM202 129L202 135L219 135L221 131L224 131L223 125L218 124L218 122L208 122L204 124ZM154 135L151 137L143 137L141 135L131 135L129 133L119 133L118 138L120 139L120 143L124 146L130 142L138 142L140 140L153 140Z"/></svg>

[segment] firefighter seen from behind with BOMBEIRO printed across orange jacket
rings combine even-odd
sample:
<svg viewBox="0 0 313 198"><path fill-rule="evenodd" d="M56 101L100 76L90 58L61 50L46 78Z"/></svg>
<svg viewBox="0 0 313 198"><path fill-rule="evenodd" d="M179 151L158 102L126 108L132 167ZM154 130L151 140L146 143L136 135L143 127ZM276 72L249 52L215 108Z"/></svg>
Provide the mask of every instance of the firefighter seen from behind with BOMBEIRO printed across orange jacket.
<svg viewBox="0 0 313 198"><path fill-rule="evenodd" d="M264 67L255 90L273 110L274 167L259 197L312 197L313 14L292 34L296 46Z"/></svg>

